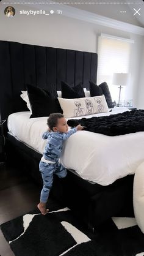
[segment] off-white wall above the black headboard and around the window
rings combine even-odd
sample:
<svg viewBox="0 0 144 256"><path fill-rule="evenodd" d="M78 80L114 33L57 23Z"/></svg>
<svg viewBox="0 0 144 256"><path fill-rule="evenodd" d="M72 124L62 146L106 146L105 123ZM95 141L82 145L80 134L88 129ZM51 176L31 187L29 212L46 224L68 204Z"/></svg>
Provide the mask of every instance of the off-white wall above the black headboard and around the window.
<svg viewBox="0 0 144 256"><path fill-rule="evenodd" d="M134 105L139 105L137 100L140 100L140 97L137 97L137 90L142 61L142 36L67 18L63 15L20 15L18 14L20 10L29 10L26 6L22 5L15 7L15 17L7 18L3 14L5 6L2 8L0 12L0 24L2 24L0 27L1 40L97 52L98 36L101 32L134 39L135 43L132 45L130 67L130 73L132 74L131 85L126 88L126 98L133 99ZM143 75L141 73L142 80Z"/></svg>

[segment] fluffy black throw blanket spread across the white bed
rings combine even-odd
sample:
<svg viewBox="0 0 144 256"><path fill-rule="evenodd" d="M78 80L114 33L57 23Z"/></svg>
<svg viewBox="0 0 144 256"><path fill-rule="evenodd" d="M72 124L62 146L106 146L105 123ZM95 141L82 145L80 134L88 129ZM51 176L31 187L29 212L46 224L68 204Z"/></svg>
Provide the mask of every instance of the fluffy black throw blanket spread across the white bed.
<svg viewBox="0 0 144 256"><path fill-rule="evenodd" d="M110 116L71 119L68 126L85 126L84 130L108 136L144 131L144 110L131 110Z"/></svg>

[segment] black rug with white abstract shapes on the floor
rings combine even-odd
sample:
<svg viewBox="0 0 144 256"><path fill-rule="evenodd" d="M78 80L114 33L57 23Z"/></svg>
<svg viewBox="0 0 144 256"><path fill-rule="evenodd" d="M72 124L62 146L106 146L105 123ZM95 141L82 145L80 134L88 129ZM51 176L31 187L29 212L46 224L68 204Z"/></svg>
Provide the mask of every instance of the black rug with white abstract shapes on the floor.
<svg viewBox="0 0 144 256"><path fill-rule="evenodd" d="M49 200L49 214L35 210L1 225L16 256L143 256L144 234L134 218L113 217L95 233L70 209Z"/></svg>

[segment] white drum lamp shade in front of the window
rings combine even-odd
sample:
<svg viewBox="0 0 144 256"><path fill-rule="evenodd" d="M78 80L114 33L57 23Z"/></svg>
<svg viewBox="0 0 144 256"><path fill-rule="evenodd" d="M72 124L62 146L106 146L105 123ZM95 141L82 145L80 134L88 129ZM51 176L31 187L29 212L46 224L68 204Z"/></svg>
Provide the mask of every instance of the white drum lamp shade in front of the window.
<svg viewBox="0 0 144 256"><path fill-rule="evenodd" d="M113 73L113 85L127 85L129 74L128 73Z"/></svg>

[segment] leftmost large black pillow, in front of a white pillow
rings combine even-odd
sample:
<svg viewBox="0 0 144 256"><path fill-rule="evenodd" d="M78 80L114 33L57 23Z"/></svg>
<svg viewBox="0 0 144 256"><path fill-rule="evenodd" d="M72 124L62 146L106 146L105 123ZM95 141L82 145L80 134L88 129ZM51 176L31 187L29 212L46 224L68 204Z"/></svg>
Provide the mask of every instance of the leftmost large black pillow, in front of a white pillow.
<svg viewBox="0 0 144 256"><path fill-rule="evenodd" d="M32 108L30 118L49 116L51 113L62 113L59 100L52 99L50 93L44 89L27 85L27 94Z"/></svg>

